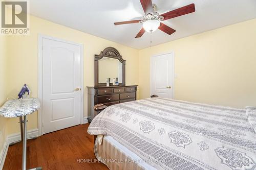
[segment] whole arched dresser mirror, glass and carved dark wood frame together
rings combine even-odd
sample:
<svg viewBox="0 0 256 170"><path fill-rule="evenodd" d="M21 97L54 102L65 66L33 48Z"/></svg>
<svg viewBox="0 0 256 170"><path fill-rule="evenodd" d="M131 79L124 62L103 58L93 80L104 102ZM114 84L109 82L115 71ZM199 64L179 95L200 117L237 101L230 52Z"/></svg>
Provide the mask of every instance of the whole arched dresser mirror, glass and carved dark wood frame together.
<svg viewBox="0 0 256 170"><path fill-rule="evenodd" d="M94 57L94 86L106 86L106 79L118 78L119 85L125 85L125 60L114 47L106 47Z"/></svg>

